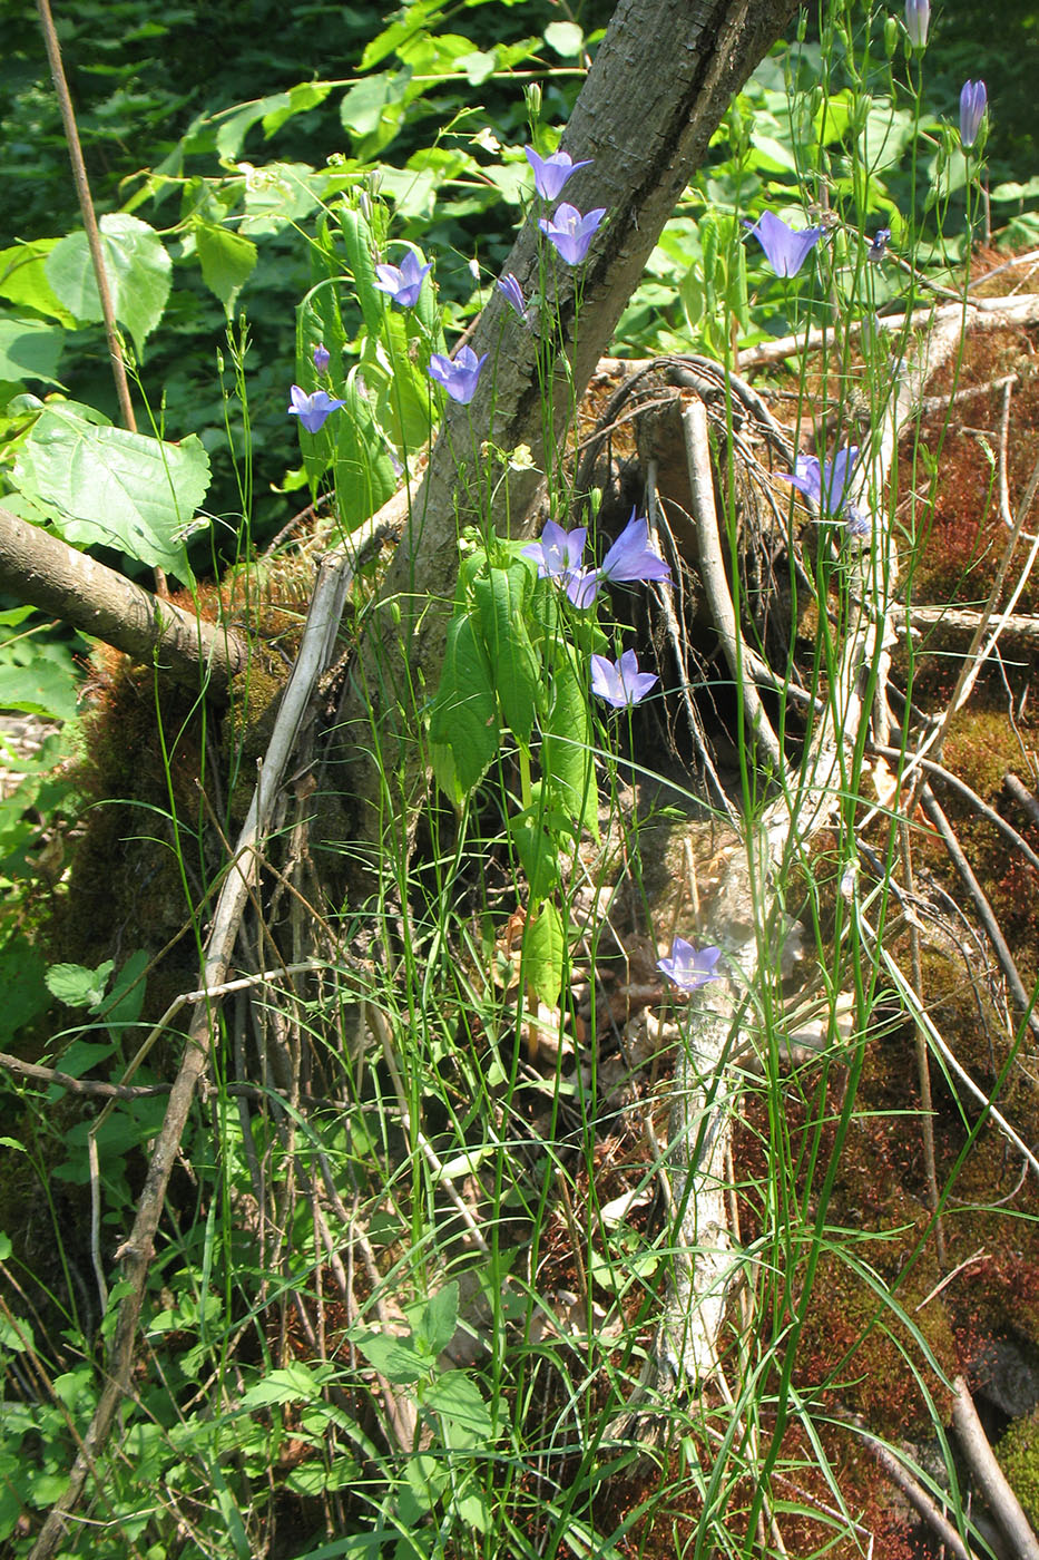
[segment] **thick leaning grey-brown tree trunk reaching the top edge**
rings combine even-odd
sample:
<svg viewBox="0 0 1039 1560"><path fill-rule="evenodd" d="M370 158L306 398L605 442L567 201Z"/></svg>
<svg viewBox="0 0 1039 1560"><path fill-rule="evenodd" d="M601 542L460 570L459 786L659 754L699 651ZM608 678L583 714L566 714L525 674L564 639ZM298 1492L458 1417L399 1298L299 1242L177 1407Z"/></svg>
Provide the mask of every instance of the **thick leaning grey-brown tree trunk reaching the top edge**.
<svg viewBox="0 0 1039 1560"><path fill-rule="evenodd" d="M460 527L482 519L480 496L490 493L491 524L515 535L537 498L540 474L507 470L488 443L496 451L529 445L541 468L554 459L568 413L711 134L794 9L796 0L618 5L563 137L576 161L593 159L566 184L566 200L580 211L605 206L608 218L587 262L571 268L548 245L541 256L532 212L504 267L524 296L543 278L559 348L552 413L546 420L541 407L535 334L548 329L548 309L530 329L495 290L471 343L490 360L471 406L448 406L340 708L326 778L351 796L345 827L359 844L376 852L385 844L382 775L392 777L390 816L404 847L426 791L418 710L440 675Z"/></svg>

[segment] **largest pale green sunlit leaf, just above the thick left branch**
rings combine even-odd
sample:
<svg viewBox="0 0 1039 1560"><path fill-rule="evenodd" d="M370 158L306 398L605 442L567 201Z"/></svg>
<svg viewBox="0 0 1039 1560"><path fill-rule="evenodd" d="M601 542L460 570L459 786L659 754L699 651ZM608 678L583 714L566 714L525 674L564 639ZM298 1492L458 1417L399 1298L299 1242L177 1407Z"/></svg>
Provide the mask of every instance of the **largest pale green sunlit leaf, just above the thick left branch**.
<svg viewBox="0 0 1039 1560"><path fill-rule="evenodd" d="M195 434L172 445L47 406L17 454L14 480L55 513L67 541L117 548L190 579L183 535L209 487Z"/></svg>

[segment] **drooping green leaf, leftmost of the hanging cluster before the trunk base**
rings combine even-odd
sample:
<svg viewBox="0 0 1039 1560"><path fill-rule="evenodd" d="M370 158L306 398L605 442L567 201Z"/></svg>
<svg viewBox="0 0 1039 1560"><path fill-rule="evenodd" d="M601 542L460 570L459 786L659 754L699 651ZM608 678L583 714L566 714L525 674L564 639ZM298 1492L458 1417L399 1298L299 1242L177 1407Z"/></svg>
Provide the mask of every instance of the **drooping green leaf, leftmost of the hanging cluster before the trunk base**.
<svg viewBox="0 0 1039 1560"><path fill-rule="evenodd" d="M456 802L470 794L498 752L498 707L487 654L468 615L448 627L440 688L429 716L429 741L448 747L454 788L437 778ZM435 755L434 755L435 761Z"/></svg>

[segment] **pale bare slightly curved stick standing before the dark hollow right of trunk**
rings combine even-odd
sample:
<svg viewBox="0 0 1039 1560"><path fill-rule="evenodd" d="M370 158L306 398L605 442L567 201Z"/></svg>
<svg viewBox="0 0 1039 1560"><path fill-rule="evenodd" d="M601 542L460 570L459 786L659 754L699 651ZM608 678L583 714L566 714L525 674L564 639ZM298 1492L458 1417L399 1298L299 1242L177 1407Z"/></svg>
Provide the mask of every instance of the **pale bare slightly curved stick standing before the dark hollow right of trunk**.
<svg viewBox="0 0 1039 1560"><path fill-rule="evenodd" d="M729 669L738 686L743 686L743 704L747 725L775 772L783 769L783 755L772 724L764 713L761 696L747 675L747 646L743 641L736 613L732 604L725 563L718 534L718 505L715 504L715 474L711 471L711 446L707 437L707 407L697 398L682 407L682 431L685 434L685 459L690 470L693 493L693 516L700 549L700 579L711 607L715 629L722 643Z"/></svg>

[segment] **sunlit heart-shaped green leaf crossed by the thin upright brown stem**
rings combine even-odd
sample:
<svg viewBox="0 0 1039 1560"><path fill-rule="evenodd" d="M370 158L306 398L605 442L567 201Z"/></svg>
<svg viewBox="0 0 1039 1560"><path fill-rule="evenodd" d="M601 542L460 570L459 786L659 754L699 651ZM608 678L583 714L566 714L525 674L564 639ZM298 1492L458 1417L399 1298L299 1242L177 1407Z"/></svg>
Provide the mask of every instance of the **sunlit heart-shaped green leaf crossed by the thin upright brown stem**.
<svg viewBox="0 0 1039 1560"><path fill-rule="evenodd" d="M101 217L100 229L115 318L129 331L140 354L170 296L170 256L154 228L139 217L111 212ZM86 232L61 239L47 256L45 271L58 301L76 320L103 318Z"/></svg>

